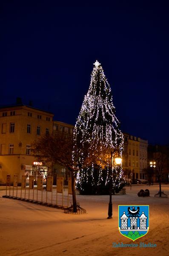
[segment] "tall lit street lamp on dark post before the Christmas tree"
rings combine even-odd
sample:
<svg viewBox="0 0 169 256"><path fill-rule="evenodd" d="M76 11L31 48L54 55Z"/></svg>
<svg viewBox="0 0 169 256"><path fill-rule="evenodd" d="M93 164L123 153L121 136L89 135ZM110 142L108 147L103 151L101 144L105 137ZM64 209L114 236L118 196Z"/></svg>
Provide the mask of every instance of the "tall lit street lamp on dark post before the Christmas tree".
<svg viewBox="0 0 169 256"><path fill-rule="evenodd" d="M112 218L112 172L113 172L112 163L113 163L113 154L115 153L115 151L118 152L117 149L111 152L111 172L110 172L110 186L109 186L110 199L109 199L109 208L108 208L108 217L107 217L108 219ZM121 162L122 162L122 158L120 157L120 154L118 152L118 156L115 157L115 163L119 165L121 164Z"/></svg>

